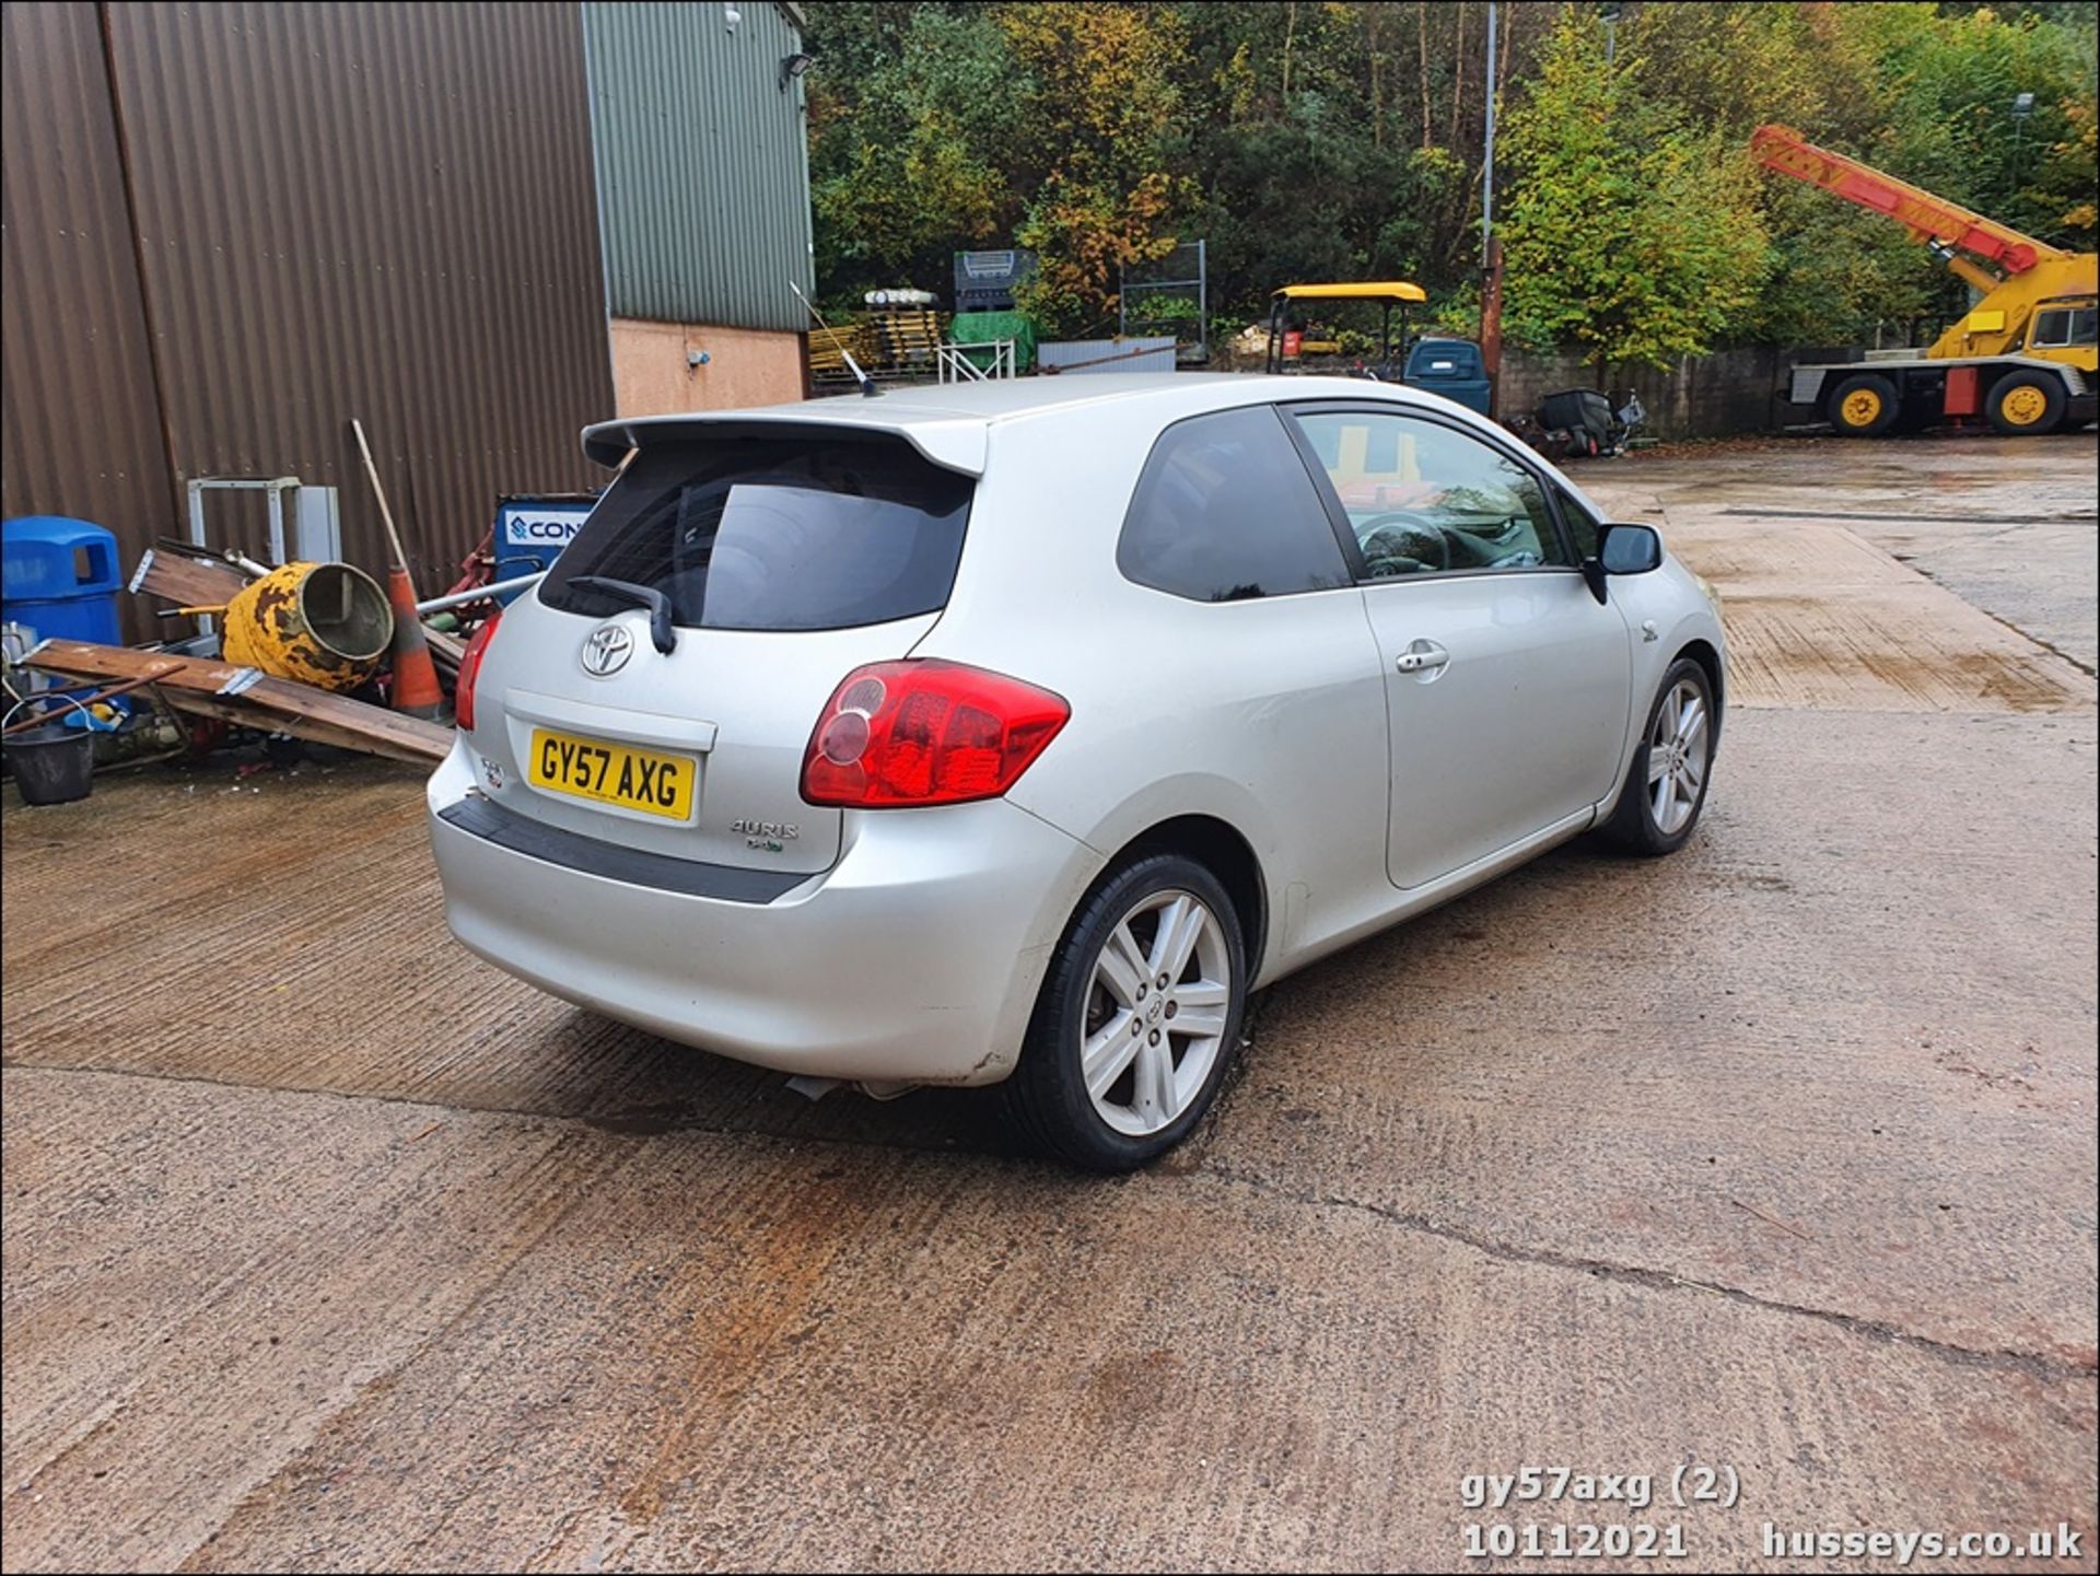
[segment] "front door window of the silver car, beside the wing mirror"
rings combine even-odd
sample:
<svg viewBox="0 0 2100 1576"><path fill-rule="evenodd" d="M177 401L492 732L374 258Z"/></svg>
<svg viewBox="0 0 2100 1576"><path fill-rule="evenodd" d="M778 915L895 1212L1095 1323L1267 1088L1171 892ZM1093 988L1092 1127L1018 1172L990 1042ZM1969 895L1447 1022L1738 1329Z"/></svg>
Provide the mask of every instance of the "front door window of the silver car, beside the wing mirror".
<svg viewBox="0 0 2100 1576"><path fill-rule="evenodd" d="M1546 489L1478 439L1384 411L1296 420L1348 512L1371 579L1573 567Z"/></svg>

